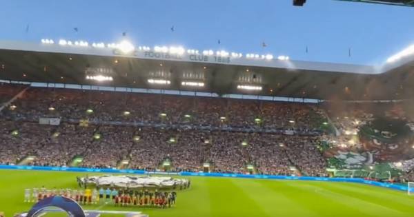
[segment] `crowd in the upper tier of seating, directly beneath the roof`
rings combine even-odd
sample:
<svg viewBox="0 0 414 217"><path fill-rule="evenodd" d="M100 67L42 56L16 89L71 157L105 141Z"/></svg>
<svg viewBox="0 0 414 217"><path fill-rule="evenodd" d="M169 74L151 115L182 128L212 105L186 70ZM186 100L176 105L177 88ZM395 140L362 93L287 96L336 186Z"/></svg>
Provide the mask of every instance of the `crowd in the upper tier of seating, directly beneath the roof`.
<svg viewBox="0 0 414 217"><path fill-rule="evenodd" d="M202 126L317 131L324 119L315 105L30 87L3 115L136 121ZM86 112L88 110L88 112Z"/></svg>

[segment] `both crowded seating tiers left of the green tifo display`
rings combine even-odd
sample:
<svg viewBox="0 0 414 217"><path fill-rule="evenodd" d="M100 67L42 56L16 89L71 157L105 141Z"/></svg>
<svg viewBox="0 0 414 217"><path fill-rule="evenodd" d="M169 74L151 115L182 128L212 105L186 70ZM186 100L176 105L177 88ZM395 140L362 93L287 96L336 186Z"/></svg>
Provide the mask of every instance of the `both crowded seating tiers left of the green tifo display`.
<svg viewBox="0 0 414 217"><path fill-rule="evenodd" d="M68 166L82 156L83 167L119 167L126 161L130 168L155 170L169 159L173 171L200 171L211 163L215 172L247 173L247 165L255 165L255 173L315 176L324 176L326 165L315 146L317 135L254 130L320 134L313 118L324 117L315 105L31 87L2 114L1 161L8 164L34 156L28 164ZM59 117L62 123L39 125L41 117ZM90 125L79 126L86 118ZM148 125L129 125L137 122ZM180 124L187 128L177 129ZM232 130L246 126L253 131Z"/></svg>

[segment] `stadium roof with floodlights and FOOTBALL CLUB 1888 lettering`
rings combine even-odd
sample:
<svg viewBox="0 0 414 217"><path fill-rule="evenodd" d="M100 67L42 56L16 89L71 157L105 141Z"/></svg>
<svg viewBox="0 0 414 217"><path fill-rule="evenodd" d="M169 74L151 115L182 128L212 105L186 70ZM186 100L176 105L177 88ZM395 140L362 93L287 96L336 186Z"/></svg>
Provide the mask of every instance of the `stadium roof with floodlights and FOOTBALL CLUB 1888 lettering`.
<svg viewBox="0 0 414 217"><path fill-rule="evenodd" d="M308 99L411 99L414 91L410 85L414 57L407 52L382 66L370 66L183 48L128 50L119 45L77 44L0 41L0 79ZM86 79L97 76L112 81ZM237 88L246 86L261 89Z"/></svg>

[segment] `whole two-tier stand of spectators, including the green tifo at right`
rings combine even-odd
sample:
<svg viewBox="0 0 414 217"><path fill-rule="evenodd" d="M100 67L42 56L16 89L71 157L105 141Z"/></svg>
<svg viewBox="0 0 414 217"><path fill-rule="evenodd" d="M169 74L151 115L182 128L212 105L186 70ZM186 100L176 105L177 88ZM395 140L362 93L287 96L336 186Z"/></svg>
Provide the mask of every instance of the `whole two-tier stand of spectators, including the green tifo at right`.
<svg viewBox="0 0 414 217"><path fill-rule="evenodd" d="M335 167L345 169L334 174L339 177L386 179L389 169L352 168L408 160L402 178L414 178L411 147L400 139L409 135L387 137L411 123L398 103L278 103L40 87L22 92L26 87L1 86L2 101L21 93L1 111L1 163L175 172L205 171L207 164L210 172L295 176L327 176L326 168ZM378 121L383 114L393 122ZM39 125L39 118L61 123ZM387 123L400 133L378 130Z"/></svg>

